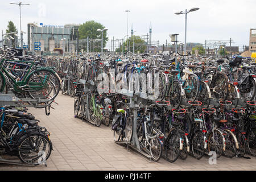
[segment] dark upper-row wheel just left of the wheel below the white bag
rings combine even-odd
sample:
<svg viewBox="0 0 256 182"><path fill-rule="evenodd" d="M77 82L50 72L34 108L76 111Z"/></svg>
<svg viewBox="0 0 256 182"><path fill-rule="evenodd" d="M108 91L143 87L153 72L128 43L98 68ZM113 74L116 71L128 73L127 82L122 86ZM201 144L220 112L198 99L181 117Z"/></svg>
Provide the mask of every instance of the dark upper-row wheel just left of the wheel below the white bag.
<svg viewBox="0 0 256 182"><path fill-rule="evenodd" d="M179 81L174 81L170 85L169 92L166 96L167 97L166 101L169 101L170 104L175 108L180 106L180 102L182 99L182 96L181 96L182 90L181 89L183 89L183 88L181 87Z"/></svg>

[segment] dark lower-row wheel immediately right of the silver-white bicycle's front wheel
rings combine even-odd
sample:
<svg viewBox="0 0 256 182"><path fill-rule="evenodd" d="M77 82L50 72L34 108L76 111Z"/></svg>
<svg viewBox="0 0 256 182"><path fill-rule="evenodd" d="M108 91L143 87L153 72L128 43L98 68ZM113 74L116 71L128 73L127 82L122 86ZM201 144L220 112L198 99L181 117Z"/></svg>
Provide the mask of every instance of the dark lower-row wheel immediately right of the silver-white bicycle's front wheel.
<svg viewBox="0 0 256 182"><path fill-rule="evenodd" d="M172 130L164 142L164 150L166 151L166 159L168 162L175 162L180 154L180 134Z"/></svg>

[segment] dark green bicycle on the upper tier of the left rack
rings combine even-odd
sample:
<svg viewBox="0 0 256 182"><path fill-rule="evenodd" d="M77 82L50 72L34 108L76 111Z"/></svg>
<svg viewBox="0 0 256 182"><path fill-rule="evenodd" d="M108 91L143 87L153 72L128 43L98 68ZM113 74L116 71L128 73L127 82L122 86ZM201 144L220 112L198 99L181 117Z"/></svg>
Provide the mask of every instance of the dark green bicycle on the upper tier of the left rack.
<svg viewBox="0 0 256 182"><path fill-rule="evenodd" d="M9 64L27 64L28 69L7 68ZM36 67L34 61L1 60L0 92L6 88L15 94L28 94L32 99L53 100L60 91L60 78L51 68ZM22 77L15 77L10 71L23 72Z"/></svg>

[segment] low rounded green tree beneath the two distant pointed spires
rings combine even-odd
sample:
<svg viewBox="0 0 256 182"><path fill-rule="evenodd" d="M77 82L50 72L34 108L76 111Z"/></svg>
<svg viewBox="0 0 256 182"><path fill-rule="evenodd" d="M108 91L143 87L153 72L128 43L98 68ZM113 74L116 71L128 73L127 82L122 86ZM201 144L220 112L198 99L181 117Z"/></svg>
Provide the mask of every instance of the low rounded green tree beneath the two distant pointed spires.
<svg viewBox="0 0 256 182"><path fill-rule="evenodd" d="M121 48L115 49L116 52L122 52L122 47L124 48L123 52L127 51L125 50L125 47L130 45L130 51L133 52L133 42L134 42L134 52L145 52L146 50L146 42L140 37L133 35L129 39L126 40L124 44L121 44Z"/></svg>

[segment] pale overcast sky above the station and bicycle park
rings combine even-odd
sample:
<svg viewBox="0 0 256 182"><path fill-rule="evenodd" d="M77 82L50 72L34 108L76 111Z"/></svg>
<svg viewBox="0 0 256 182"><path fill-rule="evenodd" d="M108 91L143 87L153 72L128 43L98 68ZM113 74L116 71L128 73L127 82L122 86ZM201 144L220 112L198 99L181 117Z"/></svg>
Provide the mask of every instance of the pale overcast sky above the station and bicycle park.
<svg viewBox="0 0 256 182"><path fill-rule="evenodd" d="M203 43L205 40L233 39L232 46L249 45L250 28L256 27L255 0L72 0L72 1L1 1L0 30L6 30L12 20L19 30L19 6L10 2L30 3L22 6L22 30L27 32L27 23L64 25L84 23L88 20L100 22L108 28L111 39L122 39L127 34L127 13L129 13L129 35L131 24L135 35L146 35L152 24L152 41L170 43L169 34L179 34L184 42L185 15L175 15L176 11L199 7L188 13L187 42ZM45 8L44 8L45 7ZM27 34L24 38L27 42Z"/></svg>

